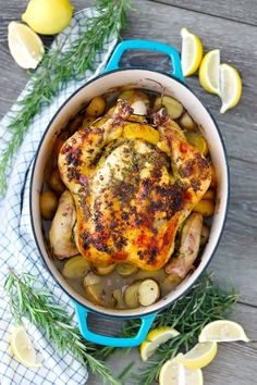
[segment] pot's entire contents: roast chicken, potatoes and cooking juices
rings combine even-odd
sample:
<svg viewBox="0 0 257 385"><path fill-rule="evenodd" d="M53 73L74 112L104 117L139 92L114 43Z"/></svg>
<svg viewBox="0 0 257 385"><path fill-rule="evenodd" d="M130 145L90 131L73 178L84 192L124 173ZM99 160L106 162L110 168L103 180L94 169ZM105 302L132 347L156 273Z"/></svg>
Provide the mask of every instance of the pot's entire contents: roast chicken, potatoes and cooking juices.
<svg viewBox="0 0 257 385"><path fill-rule="evenodd" d="M179 101L145 89L98 96L49 154L40 196L49 252L91 302L150 306L197 266L216 187L208 144Z"/></svg>

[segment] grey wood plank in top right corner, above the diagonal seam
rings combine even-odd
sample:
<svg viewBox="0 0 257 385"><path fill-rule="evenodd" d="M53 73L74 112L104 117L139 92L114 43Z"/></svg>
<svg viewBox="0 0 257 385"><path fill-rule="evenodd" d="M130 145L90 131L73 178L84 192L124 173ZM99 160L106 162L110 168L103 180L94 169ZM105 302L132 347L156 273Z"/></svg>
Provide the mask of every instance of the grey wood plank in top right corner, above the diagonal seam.
<svg viewBox="0 0 257 385"><path fill-rule="evenodd" d="M257 25L257 4L255 0L158 0L163 4L175 5L199 13L216 15L237 22Z"/></svg>

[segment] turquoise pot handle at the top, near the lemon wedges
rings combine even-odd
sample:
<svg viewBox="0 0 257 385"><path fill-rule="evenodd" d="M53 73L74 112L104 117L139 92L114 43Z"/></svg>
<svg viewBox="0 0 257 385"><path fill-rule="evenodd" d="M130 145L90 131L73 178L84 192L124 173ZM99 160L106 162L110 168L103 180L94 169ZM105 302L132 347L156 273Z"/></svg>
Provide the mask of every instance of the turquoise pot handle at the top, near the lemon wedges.
<svg viewBox="0 0 257 385"><path fill-rule="evenodd" d="M180 53L178 52L178 50L174 47L170 47L162 42L150 41L150 40L125 40L120 42L114 49L106 66L105 72L120 69L119 63L122 54L127 50L134 50L134 49L140 49L140 50L145 49L149 51L167 53L171 59L172 75L178 79L184 82L184 77L181 69Z"/></svg>

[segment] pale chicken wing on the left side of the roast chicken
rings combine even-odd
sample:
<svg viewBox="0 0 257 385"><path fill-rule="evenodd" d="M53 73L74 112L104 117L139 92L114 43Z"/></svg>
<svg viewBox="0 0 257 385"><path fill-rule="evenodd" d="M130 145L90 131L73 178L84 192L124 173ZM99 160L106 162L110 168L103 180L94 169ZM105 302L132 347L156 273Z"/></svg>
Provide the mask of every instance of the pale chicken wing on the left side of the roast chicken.
<svg viewBox="0 0 257 385"><path fill-rule="evenodd" d="M49 232L52 252L59 259L78 254L73 239L73 226L75 221L76 210L74 200L71 192L65 190L60 197Z"/></svg>

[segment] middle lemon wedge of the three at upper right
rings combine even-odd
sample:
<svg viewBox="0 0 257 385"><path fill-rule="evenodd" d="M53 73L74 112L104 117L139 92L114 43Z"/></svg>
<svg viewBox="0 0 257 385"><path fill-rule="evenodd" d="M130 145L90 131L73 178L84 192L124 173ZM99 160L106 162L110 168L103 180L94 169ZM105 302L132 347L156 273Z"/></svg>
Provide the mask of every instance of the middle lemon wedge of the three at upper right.
<svg viewBox="0 0 257 385"><path fill-rule="evenodd" d="M220 96L220 50L215 49L204 57L199 67L201 87L210 94Z"/></svg>

